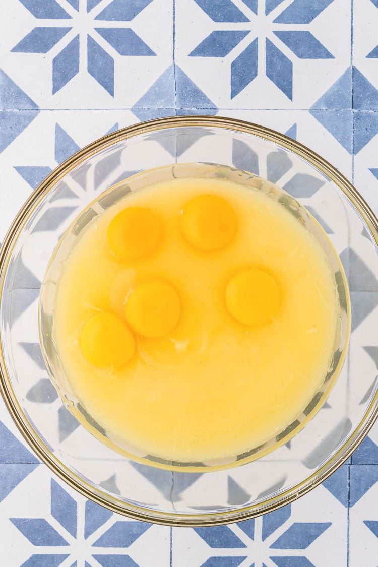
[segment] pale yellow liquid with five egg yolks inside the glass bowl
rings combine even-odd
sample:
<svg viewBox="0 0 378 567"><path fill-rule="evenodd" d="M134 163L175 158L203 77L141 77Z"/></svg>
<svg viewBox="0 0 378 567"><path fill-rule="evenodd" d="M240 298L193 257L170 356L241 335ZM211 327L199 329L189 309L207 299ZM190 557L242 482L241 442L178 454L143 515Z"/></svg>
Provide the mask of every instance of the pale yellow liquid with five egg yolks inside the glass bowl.
<svg viewBox="0 0 378 567"><path fill-rule="evenodd" d="M239 455L320 387L339 305L315 238L222 179L130 193L80 234L54 338L80 404L122 446L179 462Z"/></svg>

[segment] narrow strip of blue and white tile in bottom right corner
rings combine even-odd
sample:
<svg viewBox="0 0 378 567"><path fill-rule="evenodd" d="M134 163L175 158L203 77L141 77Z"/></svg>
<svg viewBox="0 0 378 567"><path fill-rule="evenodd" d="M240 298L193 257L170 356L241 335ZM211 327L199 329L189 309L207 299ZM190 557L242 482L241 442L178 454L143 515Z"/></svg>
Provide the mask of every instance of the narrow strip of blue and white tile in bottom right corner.
<svg viewBox="0 0 378 567"><path fill-rule="evenodd" d="M378 557L378 467L350 467L350 566L376 567Z"/></svg>

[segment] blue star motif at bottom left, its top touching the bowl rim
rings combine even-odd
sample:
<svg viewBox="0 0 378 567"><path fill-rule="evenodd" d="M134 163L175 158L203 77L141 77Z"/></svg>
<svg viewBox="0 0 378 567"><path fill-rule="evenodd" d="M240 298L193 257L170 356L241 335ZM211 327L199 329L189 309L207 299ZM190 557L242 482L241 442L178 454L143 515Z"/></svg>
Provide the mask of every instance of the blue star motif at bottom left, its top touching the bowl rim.
<svg viewBox="0 0 378 567"><path fill-rule="evenodd" d="M79 543L79 547L88 548L88 554L100 565L116 565L120 557L122 557L122 565L129 567L136 565L122 550L130 547L151 527L151 524L114 521L115 517L110 510L90 500L85 503L80 500L78 503L54 479L51 479L50 489L50 513L54 519L53 525L45 518L10 518L12 524L28 539L36 551L24 562L23 567L33 565L52 567L60 565L67 557L70 557L70 561L75 561L77 557L72 551L75 549L74 543ZM78 524L80 506L83 507L84 515L82 530ZM104 531L105 523L107 530ZM48 547L49 553L39 554L38 548L41 547Z"/></svg>

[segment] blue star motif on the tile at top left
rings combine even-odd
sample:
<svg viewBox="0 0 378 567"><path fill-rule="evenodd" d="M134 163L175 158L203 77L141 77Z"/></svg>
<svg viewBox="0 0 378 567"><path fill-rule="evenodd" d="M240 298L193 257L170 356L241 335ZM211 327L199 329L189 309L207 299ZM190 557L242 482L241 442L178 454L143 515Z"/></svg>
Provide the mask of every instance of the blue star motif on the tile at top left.
<svg viewBox="0 0 378 567"><path fill-rule="evenodd" d="M62 45L53 58L53 94L82 70L85 61L81 53L86 53L88 73L112 96L113 50L121 56L156 56L126 23L152 0L113 0L100 12L101 6L97 6L102 0L87 0L86 6L78 0L65 0L66 9L56 0L19 1L40 25L27 33L12 52L48 53L54 46Z"/></svg>

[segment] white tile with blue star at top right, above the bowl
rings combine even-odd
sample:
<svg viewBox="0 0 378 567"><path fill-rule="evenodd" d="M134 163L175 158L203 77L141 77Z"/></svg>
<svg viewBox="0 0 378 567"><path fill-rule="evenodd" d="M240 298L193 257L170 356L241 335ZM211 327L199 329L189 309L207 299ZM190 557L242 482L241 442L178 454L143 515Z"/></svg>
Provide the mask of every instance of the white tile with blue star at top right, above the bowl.
<svg viewBox="0 0 378 567"><path fill-rule="evenodd" d="M205 108L309 108L350 65L350 18L344 0L182 0L176 64Z"/></svg>

